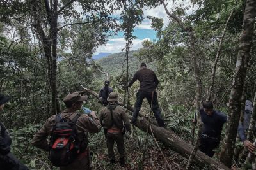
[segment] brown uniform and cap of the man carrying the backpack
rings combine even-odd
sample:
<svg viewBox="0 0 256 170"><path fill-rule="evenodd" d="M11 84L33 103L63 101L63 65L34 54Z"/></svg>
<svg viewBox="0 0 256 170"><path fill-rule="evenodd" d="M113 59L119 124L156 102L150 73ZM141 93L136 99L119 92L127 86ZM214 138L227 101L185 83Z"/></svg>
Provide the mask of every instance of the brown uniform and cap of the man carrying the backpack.
<svg viewBox="0 0 256 170"><path fill-rule="evenodd" d="M74 95L79 93L75 92ZM68 94L68 99L72 99L72 94ZM74 96L73 95L73 96ZM66 98L65 97L65 98ZM81 96L83 97L83 96ZM67 99L66 98L66 99ZM87 96L86 96L87 99ZM70 118L72 120L76 116L76 111L66 109L61 113L61 117L63 119ZM38 131L34 138L32 139L32 145L42 150L49 150L49 143L47 142L47 137L51 135L52 127L55 124L56 115L48 118L45 122L44 126ZM77 156L77 159L74 160L71 164L65 167L60 167L61 170L72 169L72 170L82 170L88 169L88 135L87 132L97 133L101 129L99 118L92 115L92 118L89 115L82 114L76 122L76 130L77 130L77 138L81 142L80 150L81 152Z"/></svg>

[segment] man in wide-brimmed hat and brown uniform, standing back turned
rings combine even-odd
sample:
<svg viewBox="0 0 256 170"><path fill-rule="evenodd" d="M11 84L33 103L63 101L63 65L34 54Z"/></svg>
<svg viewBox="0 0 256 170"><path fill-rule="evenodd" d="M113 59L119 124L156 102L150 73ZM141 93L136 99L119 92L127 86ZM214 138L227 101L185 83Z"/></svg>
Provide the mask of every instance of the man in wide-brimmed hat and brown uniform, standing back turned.
<svg viewBox="0 0 256 170"><path fill-rule="evenodd" d="M120 166L125 167L124 149L124 128L131 132L131 125L124 108L117 103L118 94L111 92L108 97L108 106L100 110L99 119L106 132L106 142L108 146L108 157L111 163L115 163L114 142L120 154Z"/></svg>

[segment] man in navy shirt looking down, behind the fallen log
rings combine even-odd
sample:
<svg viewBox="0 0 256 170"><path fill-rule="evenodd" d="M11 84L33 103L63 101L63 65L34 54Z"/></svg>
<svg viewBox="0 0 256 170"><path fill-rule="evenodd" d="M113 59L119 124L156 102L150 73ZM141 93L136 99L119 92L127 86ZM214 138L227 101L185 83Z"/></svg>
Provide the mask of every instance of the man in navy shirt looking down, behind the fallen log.
<svg viewBox="0 0 256 170"><path fill-rule="evenodd" d="M200 137L199 150L209 157L213 157L214 149L220 145L221 131L223 124L227 122L227 115L213 109L211 101L205 101L200 109L200 116L203 122L202 134ZM193 123L196 122L196 113Z"/></svg>

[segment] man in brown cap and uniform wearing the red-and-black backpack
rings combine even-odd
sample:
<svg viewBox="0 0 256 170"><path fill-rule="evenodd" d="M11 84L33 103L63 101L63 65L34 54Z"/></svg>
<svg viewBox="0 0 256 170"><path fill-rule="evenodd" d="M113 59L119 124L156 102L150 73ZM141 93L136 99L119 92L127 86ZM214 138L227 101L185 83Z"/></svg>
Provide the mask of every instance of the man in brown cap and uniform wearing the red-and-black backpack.
<svg viewBox="0 0 256 170"><path fill-rule="evenodd" d="M65 120L73 120L77 116L77 110L81 109L83 101L86 101L88 96L81 96L79 92L68 94L64 99L66 110L61 112L61 117ZM56 115L48 118L44 126L38 131L32 139L32 145L42 150L49 151L50 145L47 137L52 133ZM77 139L80 141L79 153L77 158L67 166L61 166L60 170L84 170L89 168L88 162L88 135L87 132L97 133L101 129L99 118L95 115L94 111L89 114L81 114L76 122Z"/></svg>

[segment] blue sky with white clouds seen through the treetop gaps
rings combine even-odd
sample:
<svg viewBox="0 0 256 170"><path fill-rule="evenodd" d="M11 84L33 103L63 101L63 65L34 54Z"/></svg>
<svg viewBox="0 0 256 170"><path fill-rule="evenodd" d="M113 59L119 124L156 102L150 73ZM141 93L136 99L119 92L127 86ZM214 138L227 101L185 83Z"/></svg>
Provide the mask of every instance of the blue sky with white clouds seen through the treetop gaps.
<svg viewBox="0 0 256 170"><path fill-rule="evenodd" d="M179 0L178 3L182 3L184 6L189 6L189 0ZM177 1L175 2L177 3ZM175 4L177 5L177 4ZM167 4L168 10L172 10L173 4L168 3ZM189 8L189 10L186 11L187 14L193 13L195 8ZM156 34L157 32L154 31L151 27L150 20L147 19L147 16L153 16L157 18L163 18L164 20L164 26L166 26L169 22L168 15L166 14L164 10L164 6L157 6L157 8L149 10L148 8L143 9L144 12L144 18L146 18L140 25L138 25L134 29L134 36L136 36L136 39L133 41L133 45L131 50L138 50L141 48L141 43L145 40L154 41L157 40ZM120 11L116 13L116 15L119 15ZM116 36L110 37L109 41L104 46L99 46L97 48L94 55L97 55L99 53L118 53L122 52L121 49L125 46L125 39L124 39L124 32L119 32Z"/></svg>

